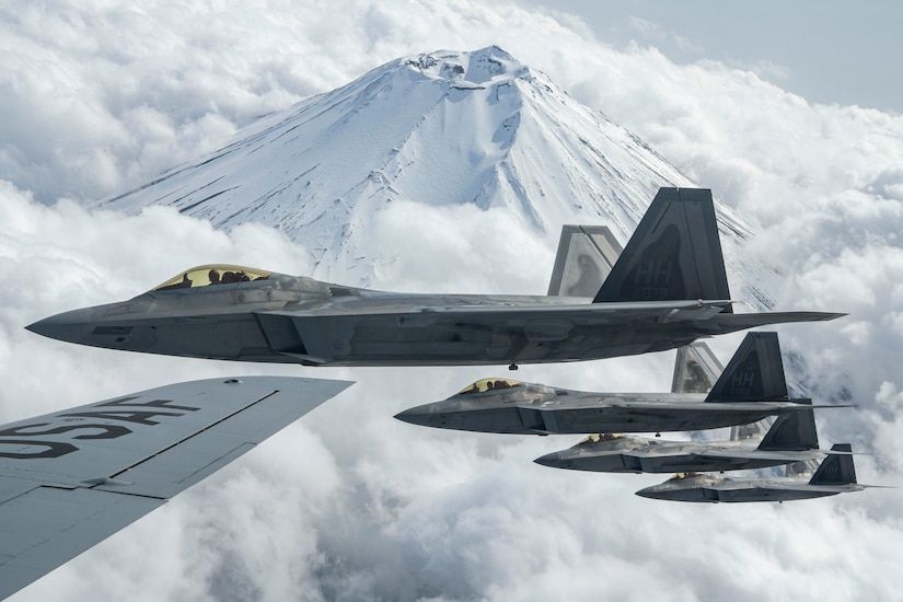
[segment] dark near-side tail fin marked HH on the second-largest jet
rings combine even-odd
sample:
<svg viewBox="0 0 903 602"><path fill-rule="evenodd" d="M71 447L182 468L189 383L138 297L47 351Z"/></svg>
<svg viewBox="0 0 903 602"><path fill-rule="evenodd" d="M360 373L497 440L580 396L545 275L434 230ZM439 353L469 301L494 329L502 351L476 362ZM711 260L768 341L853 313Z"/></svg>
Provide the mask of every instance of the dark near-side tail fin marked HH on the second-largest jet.
<svg viewBox="0 0 903 602"><path fill-rule="evenodd" d="M749 333L706 397L707 402L786 400L777 333Z"/></svg>

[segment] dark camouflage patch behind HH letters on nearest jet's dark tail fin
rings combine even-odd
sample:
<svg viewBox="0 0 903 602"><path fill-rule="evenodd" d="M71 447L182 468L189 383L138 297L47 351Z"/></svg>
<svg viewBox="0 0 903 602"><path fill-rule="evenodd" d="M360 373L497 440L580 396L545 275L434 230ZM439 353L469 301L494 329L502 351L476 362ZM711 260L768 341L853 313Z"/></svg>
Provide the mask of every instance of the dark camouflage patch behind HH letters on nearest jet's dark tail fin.
<svg viewBox="0 0 903 602"><path fill-rule="evenodd" d="M622 298L635 301L686 299L680 256L681 233L676 225L669 224L627 273L621 285Z"/></svg>

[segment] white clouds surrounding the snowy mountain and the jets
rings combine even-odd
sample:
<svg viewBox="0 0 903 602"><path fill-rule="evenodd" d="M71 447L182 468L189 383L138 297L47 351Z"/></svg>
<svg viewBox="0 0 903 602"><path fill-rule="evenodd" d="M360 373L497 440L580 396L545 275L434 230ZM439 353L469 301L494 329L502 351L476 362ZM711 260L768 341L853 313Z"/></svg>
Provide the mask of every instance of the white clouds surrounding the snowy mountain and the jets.
<svg viewBox="0 0 903 602"><path fill-rule="evenodd" d="M794 13L799 5L785 9L791 23L806 22ZM763 33L760 46L739 33L716 39L705 5L675 15L663 3L621 4L612 30L597 12L560 12L577 3L554 13L470 0L4 3L0 421L195 378L358 381L13 600L896 597L896 490L780 506L667 505L633 495L660 476L570 474L531 462L576 442L567 438L432 431L392 418L490 375L485 369L235 366L85 349L23 328L210 261L308 274L303 242L259 225L227 234L162 209L125 217L88 207L393 58L497 44L755 224L749 252L785 277L775 291L780 309L850 313L836 326L780 328L800 354L787 363L804 362L820 401L859 405L820 417L823 441L868 452L856 456L861 482L901 485L903 117L894 94L866 92L856 79L876 73L896 84L893 66L881 61L900 53L878 45L890 44L882 27L899 9L864 3L850 16L819 5L829 7L824 26L796 38L796 56L778 50L802 25L760 26L775 36ZM748 23L775 20L777 9L761 7L733 10ZM852 26L869 14L870 27ZM849 36L848 62L812 58L832 56L825 48L836 27ZM817 85L832 78L866 95ZM414 223L430 217L407 208ZM470 236L463 247L487 248L462 235ZM417 273L405 280L402 269L420 258L417 250L385 244L400 257L393 285L421 290ZM497 274L487 268L473 283L489 290L516 270L542 292L551 265L537 269L533 259L508 255ZM439 250L436 262L451 278L468 276ZM713 347L723 360L741 337ZM519 378L663 390L672 357L525 367Z"/></svg>

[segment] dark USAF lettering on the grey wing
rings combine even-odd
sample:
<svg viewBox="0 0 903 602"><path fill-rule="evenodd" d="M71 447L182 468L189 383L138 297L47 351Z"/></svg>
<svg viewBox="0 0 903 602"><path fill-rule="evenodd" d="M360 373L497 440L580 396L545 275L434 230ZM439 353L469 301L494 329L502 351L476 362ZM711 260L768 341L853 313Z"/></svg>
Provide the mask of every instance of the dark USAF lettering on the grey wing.
<svg viewBox="0 0 903 602"><path fill-rule="evenodd" d="M107 420L121 420L124 422L134 422L139 425L148 425L154 426L159 425L160 422L157 420L152 420L154 416L184 416L187 412L197 412L201 408L194 407L194 406L183 406L183 405L175 405L171 400L152 400L149 402L135 402L135 400L140 400L139 396L131 396L131 397L123 397L120 400L114 400L112 402L103 402L100 404L94 404L90 407L121 407L124 409L116 410L116 409L105 409L100 412L69 412L66 414L58 414L55 418L59 418L61 420L67 420L71 418L101 418ZM137 409L128 409L128 406L134 407L160 407L166 408L172 410L181 410L181 412L153 412L153 410L137 410ZM53 427L45 430L35 431L32 429L38 429L42 427ZM24 453L20 451L0 451L0 458L11 458L14 460L26 460L26 459L43 459L43 458L59 458L60 455L66 455L68 453L72 453L78 451L79 448L72 443L65 442L65 441L48 441L48 440L32 440L32 439L21 439L22 437L40 437L40 436L48 436L48 435L62 435L71 431L77 430L94 430L95 432L91 433L80 433L72 436L71 439L73 440L83 440L83 439L116 439L118 437L123 437L125 435L129 435L132 430L123 425L99 425L99 424L66 424L60 426L54 426L54 422L33 422L28 425L20 425L18 427L8 428L4 430L0 430L0 445L28 445L34 448L35 451L33 453ZM13 437L14 439L5 439L7 437ZM45 448L44 450L39 450L39 448Z"/></svg>

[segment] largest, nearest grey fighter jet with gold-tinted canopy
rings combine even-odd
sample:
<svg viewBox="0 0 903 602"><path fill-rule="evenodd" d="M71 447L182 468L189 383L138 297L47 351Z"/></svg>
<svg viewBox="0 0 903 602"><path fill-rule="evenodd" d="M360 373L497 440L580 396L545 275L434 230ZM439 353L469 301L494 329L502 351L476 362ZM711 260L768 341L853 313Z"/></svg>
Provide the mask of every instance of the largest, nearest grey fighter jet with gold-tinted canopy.
<svg viewBox="0 0 903 602"><path fill-rule="evenodd" d="M578 264L577 269L580 269ZM579 291L592 282L589 274ZM576 361L843 314L734 314L710 190L662 188L590 302L583 297L410 294L235 266L178 274L120 303L32 324L96 347L306 366Z"/></svg>

